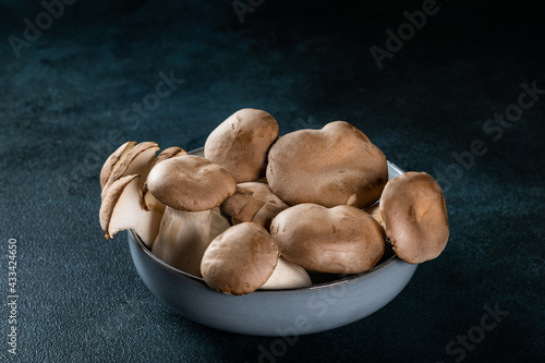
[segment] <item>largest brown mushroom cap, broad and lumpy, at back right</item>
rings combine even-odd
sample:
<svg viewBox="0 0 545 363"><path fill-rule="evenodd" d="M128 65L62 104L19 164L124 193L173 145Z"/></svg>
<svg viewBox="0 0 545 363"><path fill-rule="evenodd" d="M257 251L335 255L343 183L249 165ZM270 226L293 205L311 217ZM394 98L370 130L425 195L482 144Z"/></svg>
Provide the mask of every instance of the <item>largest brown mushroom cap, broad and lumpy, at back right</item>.
<svg viewBox="0 0 545 363"><path fill-rule="evenodd" d="M267 181L291 205L363 208L380 196L388 165L360 130L336 121L322 130L300 130L280 137L269 150Z"/></svg>

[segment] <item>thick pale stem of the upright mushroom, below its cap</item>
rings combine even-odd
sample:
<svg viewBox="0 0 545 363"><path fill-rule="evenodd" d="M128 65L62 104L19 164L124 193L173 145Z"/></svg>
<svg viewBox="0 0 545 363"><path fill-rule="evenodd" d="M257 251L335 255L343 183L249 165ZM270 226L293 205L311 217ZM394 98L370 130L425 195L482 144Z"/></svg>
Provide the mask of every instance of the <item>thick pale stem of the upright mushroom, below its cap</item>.
<svg viewBox="0 0 545 363"><path fill-rule="evenodd" d="M152 253L170 266L201 276L204 252L229 222L216 209L182 211L167 206Z"/></svg>

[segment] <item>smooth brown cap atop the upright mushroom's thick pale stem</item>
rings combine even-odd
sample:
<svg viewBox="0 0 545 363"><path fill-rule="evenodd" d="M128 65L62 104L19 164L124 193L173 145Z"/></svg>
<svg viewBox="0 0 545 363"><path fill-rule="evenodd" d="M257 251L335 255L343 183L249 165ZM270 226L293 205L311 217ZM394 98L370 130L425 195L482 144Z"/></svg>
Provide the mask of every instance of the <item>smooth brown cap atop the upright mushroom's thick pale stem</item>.
<svg viewBox="0 0 545 363"><path fill-rule="evenodd" d="M237 191L237 181L210 160L184 155L156 165L147 177L147 187L167 206L201 211L220 206Z"/></svg>

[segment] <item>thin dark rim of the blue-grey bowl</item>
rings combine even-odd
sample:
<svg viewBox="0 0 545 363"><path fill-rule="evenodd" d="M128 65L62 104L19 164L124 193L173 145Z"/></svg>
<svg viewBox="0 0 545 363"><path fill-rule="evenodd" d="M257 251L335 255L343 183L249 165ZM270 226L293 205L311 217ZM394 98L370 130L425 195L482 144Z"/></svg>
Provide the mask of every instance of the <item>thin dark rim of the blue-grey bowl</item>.
<svg viewBox="0 0 545 363"><path fill-rule="evenodd" d="M198 152L203 152L203 149L204 148L201 147L201 148L197 148L197 149L193 149L193 150L189 152L187 154L190 154L190 155L191 154L196 154ZM396 170L400 174L404 173L404 171L401 168L399 168L398 166L396 166L393 162L390 162L388 160L386 160L386 161L388 164L388 167L391 167L393 170ZM376 205L377 203L379 203L379 201L380 199L378 199L377 202L375 202L370 207ZM177 276L183 277L185 279L190 279L190 280L196 281L196 282L205 286L206 288L208 288L208 286L206 285L205 280L202 277L197 277L197 276L193 276L191 274L184 273L184 271L182 271L182 270L180 270L178 268L174 268L174 267L168 265L167 263L162 262L157 256L155 256L152 253L152 251L149 251L149 249L144 244L144 242L142 242L141 238L138 237L138 234L133 229L130 229L129 233L131 234L131 237L136 242L136 246L141 251L143 251L144 254L149 259L152 259L155 264L157 264L159 267L161 267L162 269L166 269L167 271L169 271L169 273L171 273L173 275L177 275ZM252 294L256 294L256 293L257 294L264 294L264 293L266 294L266 293L275 293L275 292L281 292L281 291L283 291L283 292L292 292L292 291L312 291L312 290L318 290L318 289L327 289L327 288L331 288L331 287L337 287L339 285L348 283L348 282L351 282L353 280L363 279L363 278L365 278L367 276L377 274L377 273L379 273L379 271L388 268L389 266L391 266L393 264L399 264L399 263L405 264L405 262L403 262L396 254L393 254L388 259L384 261L379 265L374 266L372 269L370 269L367 271L360 273L360 274L353 274L353 275L351 274L351 275L348 275L346 277L339 278L339 279L334 280L334 281L320 282L320 283L316 283L316 285L312 285L310 287L303 287L303 288L271 289L271 290L259 290L259 289L257 289L254 292L252 292Z"/></svg>

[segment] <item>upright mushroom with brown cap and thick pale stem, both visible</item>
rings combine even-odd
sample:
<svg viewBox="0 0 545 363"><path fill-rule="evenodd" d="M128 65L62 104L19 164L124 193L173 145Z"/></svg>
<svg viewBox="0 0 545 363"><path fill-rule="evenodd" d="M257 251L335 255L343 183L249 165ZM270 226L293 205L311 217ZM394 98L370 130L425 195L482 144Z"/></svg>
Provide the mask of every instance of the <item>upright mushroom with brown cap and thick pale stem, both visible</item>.
<svg viewBox="0 0 545 363"><path fill-rule="evenodd" d="M174 268L199 276L206 247L229 228L213 209L237 191L234 178L210 160L185 155L156 165L147 186L167 206L152 253ZM220 218L223 220L218 221Z"/></svg>

